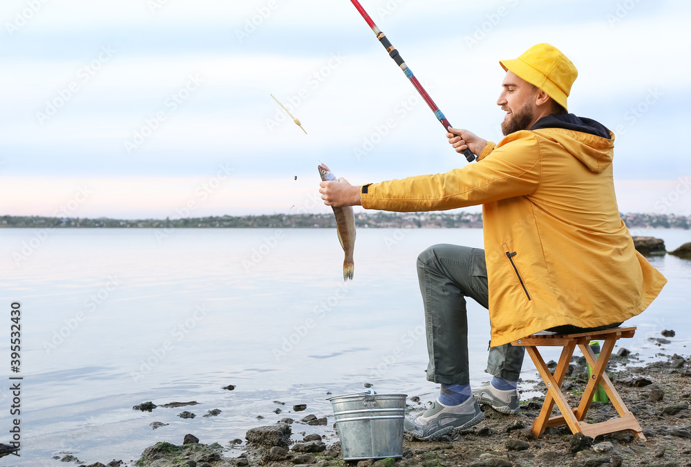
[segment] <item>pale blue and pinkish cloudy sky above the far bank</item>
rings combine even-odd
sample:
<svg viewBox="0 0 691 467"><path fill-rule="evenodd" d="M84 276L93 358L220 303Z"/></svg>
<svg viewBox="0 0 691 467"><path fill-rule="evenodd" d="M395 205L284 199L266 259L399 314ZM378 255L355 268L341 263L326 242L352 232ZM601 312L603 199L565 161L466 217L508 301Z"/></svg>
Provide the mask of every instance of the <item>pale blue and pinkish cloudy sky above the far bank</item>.
<svg viewBox="0 0 691 467"><path fill-rule="evenodd" d="M620 210L691 214L690 3L361 3L495 142L498 60L560 48L569 111L616 133ZM466 165L348 0L3 0L0 23L0 215L321 213L320 161L354 184Z"/></svg>

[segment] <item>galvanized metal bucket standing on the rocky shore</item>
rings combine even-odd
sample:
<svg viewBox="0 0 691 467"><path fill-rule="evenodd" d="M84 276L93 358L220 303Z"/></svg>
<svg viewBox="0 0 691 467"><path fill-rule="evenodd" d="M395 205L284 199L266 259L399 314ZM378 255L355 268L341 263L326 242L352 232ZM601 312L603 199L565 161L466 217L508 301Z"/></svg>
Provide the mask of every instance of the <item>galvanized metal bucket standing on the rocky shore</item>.
<svg viewBox="0 0 691 467"><path fill-rule="evenodd" d="M406 397L369 391L327 399L336 416L343 460L403 457Z"/></svg>

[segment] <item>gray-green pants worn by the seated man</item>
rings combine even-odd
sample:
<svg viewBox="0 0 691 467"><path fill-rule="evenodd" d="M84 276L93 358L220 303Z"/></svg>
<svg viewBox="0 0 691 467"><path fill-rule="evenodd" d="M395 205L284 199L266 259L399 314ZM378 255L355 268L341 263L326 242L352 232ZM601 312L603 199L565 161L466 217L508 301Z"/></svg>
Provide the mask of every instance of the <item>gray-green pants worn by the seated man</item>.
<svg viewBox="0 0 691 467"><path fill-rule="evenodd" d="M468 384L468 321L466 296L489 308L484 250L434 245L417 257L417 277L425 307L429 365L435 383ZM516 312L518 310L504 310ZM518 381L524 347L491 347L487 372Z"/></svg>

